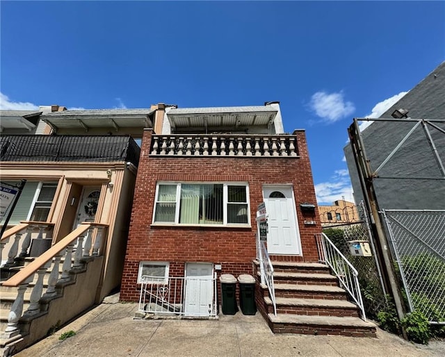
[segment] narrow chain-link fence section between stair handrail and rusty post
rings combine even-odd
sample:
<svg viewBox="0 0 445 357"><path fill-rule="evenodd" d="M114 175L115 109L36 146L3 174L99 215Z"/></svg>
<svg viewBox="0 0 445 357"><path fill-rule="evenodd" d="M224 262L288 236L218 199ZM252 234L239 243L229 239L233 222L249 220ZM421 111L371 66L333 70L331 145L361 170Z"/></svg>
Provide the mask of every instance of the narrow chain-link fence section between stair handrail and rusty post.
<svg viewBox="0 0 445 357"><path fill-rule="evenodd" d="M325 227L323 233L332 240L341 253L357 269L366 315L371 319L376 319L377 313L386 304L385 291L382 288L380 270L375 263L375 249L363 202L357 205L357 212L359 220L357 219L356 222ZM373 253L372 256L354 256L351 254L348 242L357 240L369 243Z"/></svg>

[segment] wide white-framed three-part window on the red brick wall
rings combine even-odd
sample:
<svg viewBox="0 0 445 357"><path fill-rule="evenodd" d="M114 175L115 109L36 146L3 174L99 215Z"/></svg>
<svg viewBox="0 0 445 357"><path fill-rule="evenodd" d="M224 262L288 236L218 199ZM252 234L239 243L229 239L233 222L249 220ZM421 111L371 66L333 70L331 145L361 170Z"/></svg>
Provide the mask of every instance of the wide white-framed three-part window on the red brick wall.
<svg viewBox="0 0 445 357"><path fill-rule="evenodd" d="M250 224L248 185L158 183L154 223Z"/></svg>

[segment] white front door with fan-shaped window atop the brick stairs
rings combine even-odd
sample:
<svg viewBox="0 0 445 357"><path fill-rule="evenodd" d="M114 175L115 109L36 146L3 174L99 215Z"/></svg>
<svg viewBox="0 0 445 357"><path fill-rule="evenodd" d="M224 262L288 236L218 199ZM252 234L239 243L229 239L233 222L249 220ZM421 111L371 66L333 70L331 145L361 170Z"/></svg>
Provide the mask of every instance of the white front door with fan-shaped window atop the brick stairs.
<svg viewBox="0 0 445 357"><path fill-rule="evenodd" d="M269 254L301 254L300 232L291 186L265 186Z"/></svg>

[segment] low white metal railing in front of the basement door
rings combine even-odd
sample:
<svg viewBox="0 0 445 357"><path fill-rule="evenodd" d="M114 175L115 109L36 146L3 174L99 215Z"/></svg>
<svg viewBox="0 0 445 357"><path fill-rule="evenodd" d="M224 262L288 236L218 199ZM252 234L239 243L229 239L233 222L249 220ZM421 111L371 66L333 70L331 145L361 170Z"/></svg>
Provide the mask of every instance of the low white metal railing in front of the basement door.
<svg viewBox="0 0 445 357"><path fill-rule="evenodd" d="M141 279L140 311L185 317L217 315L216 273L213 278L144 275Z"/></svg>

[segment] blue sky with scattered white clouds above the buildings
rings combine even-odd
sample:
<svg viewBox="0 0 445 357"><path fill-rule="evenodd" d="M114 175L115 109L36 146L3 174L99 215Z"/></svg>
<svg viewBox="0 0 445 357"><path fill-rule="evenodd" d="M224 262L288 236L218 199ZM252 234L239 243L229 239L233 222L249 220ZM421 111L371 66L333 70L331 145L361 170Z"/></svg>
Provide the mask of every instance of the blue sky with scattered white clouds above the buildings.
<svg viewBox="0 0 445 357"><path fill-rule="evenodd" d="M318 204L351 200L343 147L445 60L444 1L1 1L0 108L280 101ZM386 103L386 106L385 106Z"/></svg>

